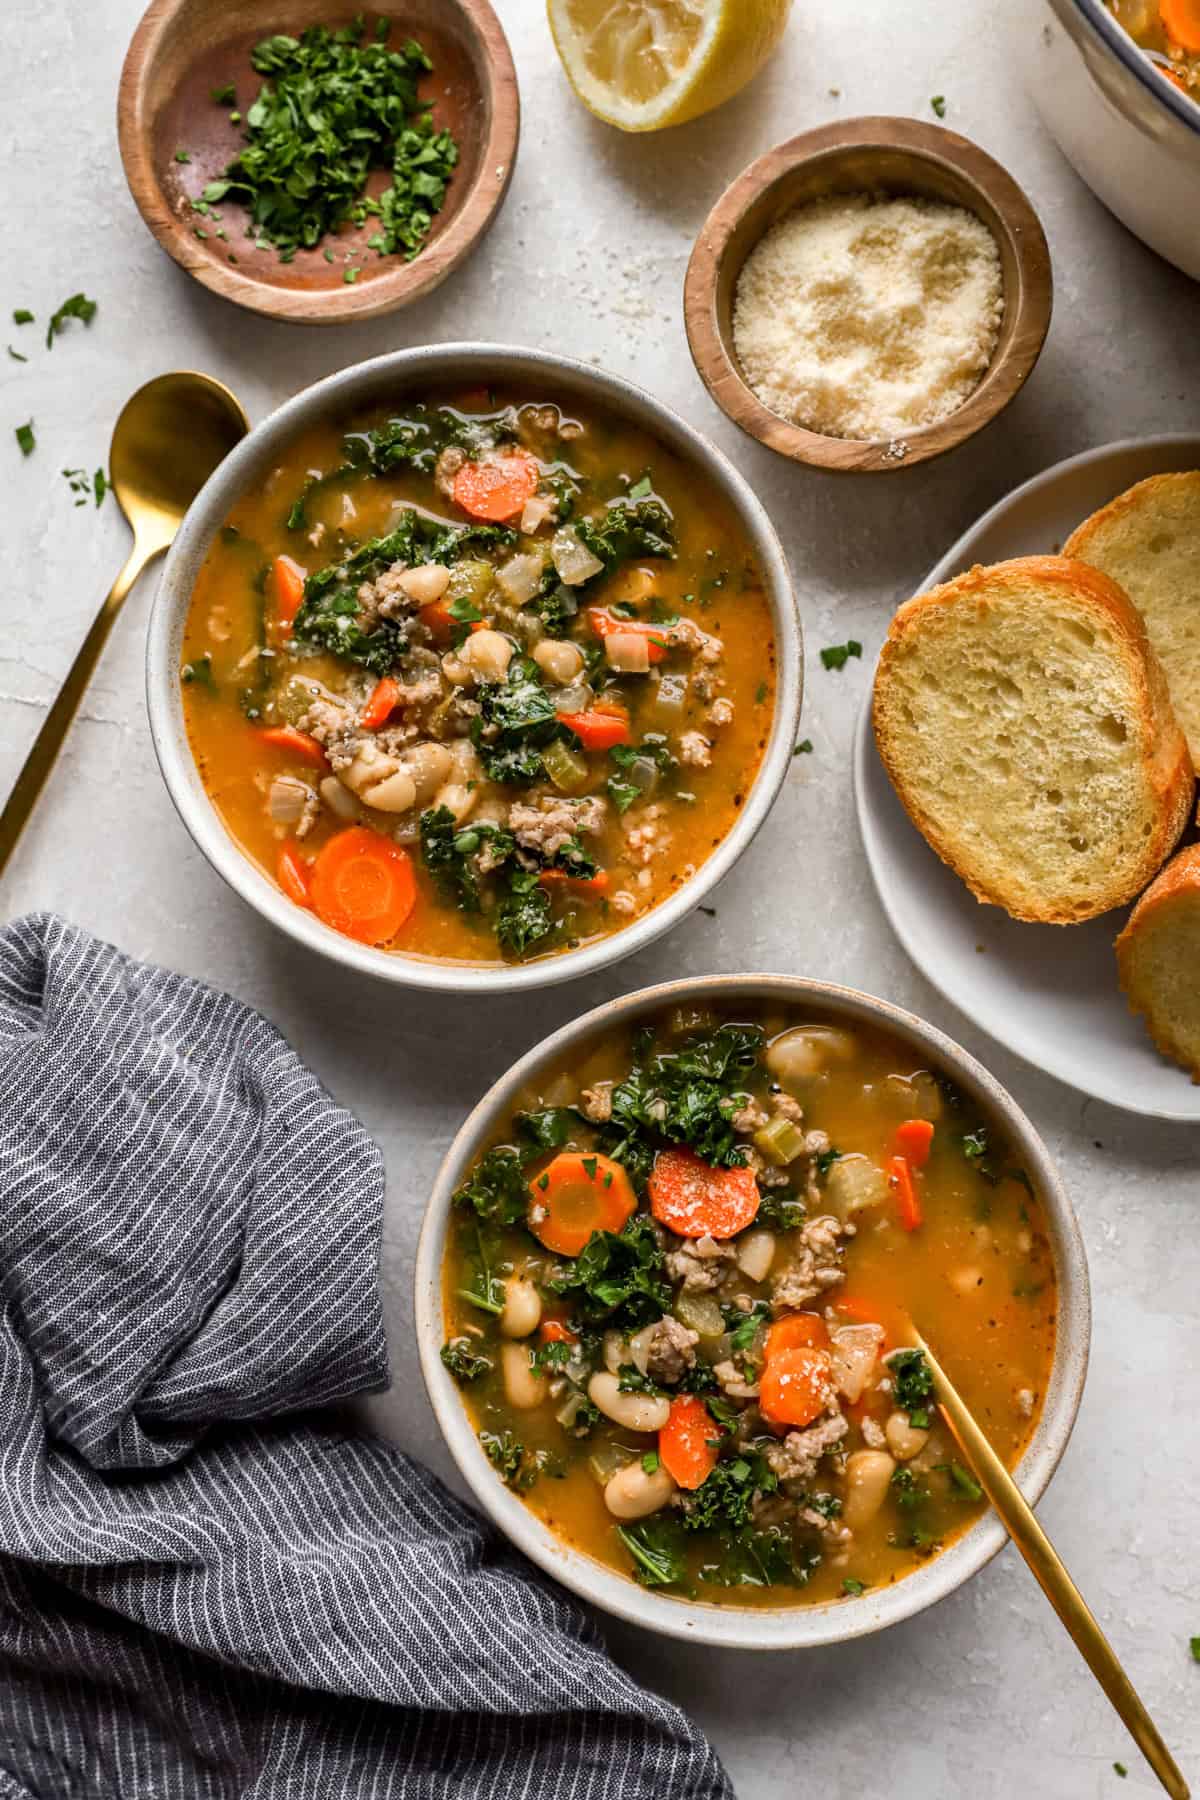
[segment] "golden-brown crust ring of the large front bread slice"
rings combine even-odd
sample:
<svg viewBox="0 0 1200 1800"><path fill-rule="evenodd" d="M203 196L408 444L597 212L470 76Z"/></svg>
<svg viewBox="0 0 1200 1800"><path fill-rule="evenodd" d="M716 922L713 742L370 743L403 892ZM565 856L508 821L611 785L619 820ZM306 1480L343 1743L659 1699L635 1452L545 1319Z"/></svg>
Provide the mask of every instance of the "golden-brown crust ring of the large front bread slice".
<svg viewBox="0 0 1200 1800"><path fill-rule="evenodd" d="M1137 869L1128 878L1114 882L1087 907L1065 909L1049 902L1043 907L1016 907L1011 896L990 889L979 871L964 859L954 835L928 817L909 790L903 751L889 718L889 670L900 657L905 641L921 630L928 616L941 608L959 608L964 605L975 607L982 616L995 589L1000 585L1011 589L1015 583L1027 583L1031 589L1042 592L1058 589L1072 603L1101 614L1126 652L1139 697L1142 758L1155 797L1157 828L1146 839L1144 855L1139 859ZM993 567L977 563L952 581L945 581L941 587L905 601L891 623L880 653L871 716L880 760L916 828L979 902L999 905L1013 918L1043 925L1072 925L1124 905L1153 878L1155 871L1171 853L1191 812L1195 788L1191 754L1171 709L1166 675L1150 646L1142 616L1124 590L1106 574L1067 556L1018 556Z"/></svg>

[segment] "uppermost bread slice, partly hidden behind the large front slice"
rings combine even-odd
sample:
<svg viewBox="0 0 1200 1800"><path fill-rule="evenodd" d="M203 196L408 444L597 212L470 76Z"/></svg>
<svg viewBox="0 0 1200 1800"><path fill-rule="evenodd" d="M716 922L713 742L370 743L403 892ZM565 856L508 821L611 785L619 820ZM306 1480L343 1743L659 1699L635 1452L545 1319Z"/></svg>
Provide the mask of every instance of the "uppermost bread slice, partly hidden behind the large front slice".
<svg viewBox="0 0 1200 1800"><path fill-rule="evenodd" d="M1200 770L1200 470L1139 481L1085 518L1063 554L1103 569L1141 612Z"/></svg>

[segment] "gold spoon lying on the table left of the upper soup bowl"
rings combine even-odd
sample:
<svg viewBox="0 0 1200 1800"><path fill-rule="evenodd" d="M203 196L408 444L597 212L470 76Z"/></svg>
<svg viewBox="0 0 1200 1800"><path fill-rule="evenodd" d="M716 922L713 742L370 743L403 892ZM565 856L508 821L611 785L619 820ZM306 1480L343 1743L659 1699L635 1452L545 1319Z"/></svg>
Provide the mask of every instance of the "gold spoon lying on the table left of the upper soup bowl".
<svg viewBox="0 0 1200 1800"><path fill-rule="evenodd" d="M250 421L230 391L210 374L191 369L155 376L124 403L113 427L108 466L117 504L133 527L133 549L92 621L0 814L0 875L54 769L126 594L146 563L169 547L212 470L248 430Z"/></svg>

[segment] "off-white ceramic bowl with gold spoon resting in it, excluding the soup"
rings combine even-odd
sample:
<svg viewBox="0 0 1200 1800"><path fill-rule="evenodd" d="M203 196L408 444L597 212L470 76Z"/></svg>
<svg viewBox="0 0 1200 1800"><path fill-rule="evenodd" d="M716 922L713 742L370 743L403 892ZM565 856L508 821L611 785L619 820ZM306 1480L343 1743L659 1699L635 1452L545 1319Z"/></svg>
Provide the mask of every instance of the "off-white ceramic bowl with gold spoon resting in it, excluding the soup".
<svg viewBox="0 0 1200 1800"><path fill-rule="evenodd" d="M790 1651L862 1638L923 1613L977 1575L1007 1543L995 1514L986 1512L910 1575L853 1598L786 1607L739 1607L671 1598L640 1588L631 1577L558 1537L498 1478L484 1454L462 1400L462 1390L443 1366L446 1341L443 1264L453 1193L482 1152L504 1138L507 1121L543 1075L583 1060L599 1039L626 1031L671 1006L772 1004L813 1015L820 1022L874 1026L910 1046L923 1067L945 1073L984 1114L993 1118L1029 1174L1045 1211L1058 1280L1058 1330L1045 1400L1025 1453L1015 1469L1022 1492L1036 1505L1054 1474L1074 1427L1087 1375L1092 1305L1079 1226L1061 1177L1029 1118L982 1064L954 1039L914 1013L855 988L831 986L799 976L709 976L642 988L585 1013L531 1049L470 1114L437 1174L416 1258L416 1334L421 1373L437 1424L462 1480L482 1510L533 1562L581 1598L617 1618L693 1643L727 1649ZM934 1346L937 1321L919 1321Z"/></svg>

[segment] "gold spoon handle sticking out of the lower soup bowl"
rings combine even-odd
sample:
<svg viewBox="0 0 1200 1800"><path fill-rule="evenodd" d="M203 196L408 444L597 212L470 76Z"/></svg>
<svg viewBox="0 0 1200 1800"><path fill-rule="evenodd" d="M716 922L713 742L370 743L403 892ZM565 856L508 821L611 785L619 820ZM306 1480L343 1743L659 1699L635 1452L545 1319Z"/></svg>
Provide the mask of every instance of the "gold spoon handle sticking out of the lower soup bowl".
<svg viewBox="0 0 1200 1800"><path fill-rule="evenodd" d="M916 1327L912 1336L918 1348L925 1352L925 1359L934 1377L937 1404L959 1440L959 1449L975 1471L975 1478L984 1494L1000 1514L1009 1537L1033 1570L1042 1593L1074 1638L1076 1649L1115 1706L1146 1762L1171 1795L1171 1800L1189 1800L1191 1789L1180 1775L1171 1751L1159 1737L1159 1730L1137 1697L1133 1683L1117 1661L1115 1651L1099 1629L1087 1600L1067 1573L1054 1544L1034 1519L1025 1496L1020 1492L1016 1481L1013 1481L1013 1476L988 1444L988 1438L975 1422L975 1415L970 1411L966 1400L957 1391Z"/></svg>

